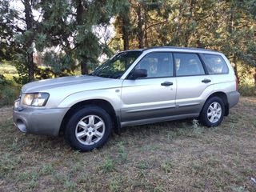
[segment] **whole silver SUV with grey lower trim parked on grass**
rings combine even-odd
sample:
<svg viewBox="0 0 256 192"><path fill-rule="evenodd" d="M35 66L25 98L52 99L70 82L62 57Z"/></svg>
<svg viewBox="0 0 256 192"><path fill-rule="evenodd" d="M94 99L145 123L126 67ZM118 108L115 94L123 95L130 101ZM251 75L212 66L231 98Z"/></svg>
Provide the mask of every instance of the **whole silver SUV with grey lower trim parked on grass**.
<svg viewBox="0 0 256 192"><path fill-rule="evenodd" d="M218 126L238 100L224 54L155 47L115 54L89 75L30 82L13 117L22 132L57 136L62 130L70 146L86 151L123 126L182 118Z"/></svg>

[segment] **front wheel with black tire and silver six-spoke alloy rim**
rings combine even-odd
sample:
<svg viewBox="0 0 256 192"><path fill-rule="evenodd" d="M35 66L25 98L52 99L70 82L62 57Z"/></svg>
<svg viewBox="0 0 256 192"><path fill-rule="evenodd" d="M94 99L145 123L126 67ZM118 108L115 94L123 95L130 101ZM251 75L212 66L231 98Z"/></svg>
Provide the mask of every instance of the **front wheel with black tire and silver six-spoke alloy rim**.
<svg viewBox="0 0 256 192"><path fill-rule="evenodd" d="M65 138L74 150L90 151L103 146L112 131L110 115L98 106L85 106L66 125Z"/></svg>

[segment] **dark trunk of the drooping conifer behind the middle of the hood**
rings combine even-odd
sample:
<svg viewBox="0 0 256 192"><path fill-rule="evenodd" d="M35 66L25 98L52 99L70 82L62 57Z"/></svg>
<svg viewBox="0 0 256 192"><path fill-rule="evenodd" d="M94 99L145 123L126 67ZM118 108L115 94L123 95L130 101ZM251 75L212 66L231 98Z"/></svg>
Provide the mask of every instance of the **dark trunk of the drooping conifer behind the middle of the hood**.
<svg viewBox="0 0 256 192"><path fill-rule="evenodd" d="M78 26L82 26L82 14L85 11L84 6L82 5L82 0L77 0L77 22ZM81 33L81 31L78 31L78 33ZM78 45L79 46L79 45ZM87 57L86 55L80 55L81 61L81 74L88 74L88 69L87 69Z"/></svg>

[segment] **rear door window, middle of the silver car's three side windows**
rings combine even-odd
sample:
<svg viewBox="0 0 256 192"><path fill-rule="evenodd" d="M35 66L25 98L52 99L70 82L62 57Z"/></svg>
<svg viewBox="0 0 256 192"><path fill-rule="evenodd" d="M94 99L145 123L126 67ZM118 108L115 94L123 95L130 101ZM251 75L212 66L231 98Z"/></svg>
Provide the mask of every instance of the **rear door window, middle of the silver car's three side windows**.
<svg viewBox="0 0 256 192"><path fill-rule="evenodd" d="M174 53L176 76L190 76L205 74L198 54Z"/></svg>

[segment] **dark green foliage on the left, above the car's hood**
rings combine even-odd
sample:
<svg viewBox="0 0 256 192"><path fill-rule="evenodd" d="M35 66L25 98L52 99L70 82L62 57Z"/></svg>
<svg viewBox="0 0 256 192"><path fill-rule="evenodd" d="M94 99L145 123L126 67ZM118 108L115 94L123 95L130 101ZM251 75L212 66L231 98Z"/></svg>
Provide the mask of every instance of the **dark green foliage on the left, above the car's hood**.
<svg viewBox="0 0 256 192"><path fill-rule="evenodd" d="M88 68L98 62L100 54L110 53L106 42L97 34L97 27L109 24L121 2L18 1L25 14L15 10L10 2L14 1L4 0L0 4L0 33L4 45L0 58L9 58L15 63L19 74L16 82L46 78L49 71L54 77L73 74L78 66L82 74L86 74ZM34 58L38 55L46 68L38 69ZM46 71L42 71L44 69Z"/></svg>

